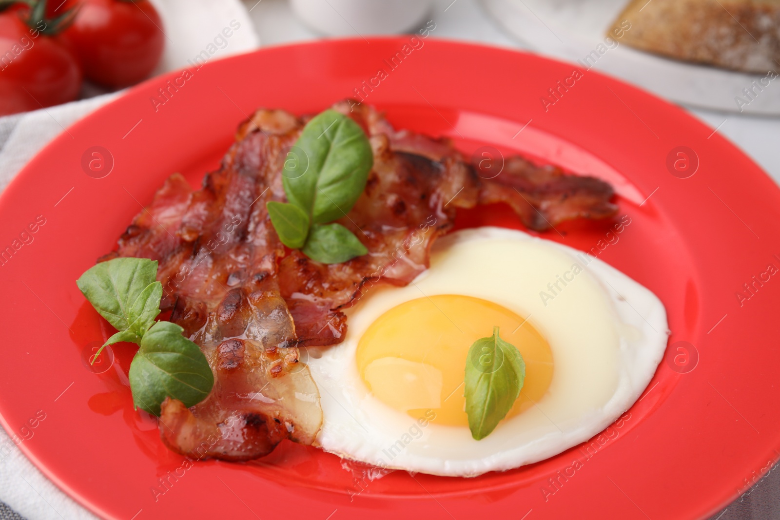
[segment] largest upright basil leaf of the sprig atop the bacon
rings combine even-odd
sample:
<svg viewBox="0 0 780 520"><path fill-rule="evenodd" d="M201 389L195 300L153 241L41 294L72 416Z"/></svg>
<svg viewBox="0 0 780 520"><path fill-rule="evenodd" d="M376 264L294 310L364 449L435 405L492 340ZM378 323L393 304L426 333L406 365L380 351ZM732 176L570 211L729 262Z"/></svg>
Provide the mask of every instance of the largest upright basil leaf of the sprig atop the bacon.
<svg viewBox="0 0 780 520"><path fill-rule="evenodd" d="M307 123L294 148L304 157L285 161L287 200L309 215L312 224L342 218L363 193L374 164L363 129L346 115L326 110Z"/></svg>

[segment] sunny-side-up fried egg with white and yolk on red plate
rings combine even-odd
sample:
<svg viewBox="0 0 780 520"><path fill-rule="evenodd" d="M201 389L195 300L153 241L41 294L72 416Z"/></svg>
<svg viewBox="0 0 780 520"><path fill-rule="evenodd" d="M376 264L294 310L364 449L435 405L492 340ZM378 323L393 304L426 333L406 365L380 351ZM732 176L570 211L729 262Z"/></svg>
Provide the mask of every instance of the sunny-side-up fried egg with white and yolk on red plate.
<svg viewBox="0 0 780 520"><path fill-rule="evenodd" d="M310 350L316 444L382 468L477 476L551 457L604 430L664 355L661 301L576 249L505 228L439 239L431 267L346 310L344 341ZM473 341L500 327L526 363L519 398L474 440L463 395Z"/></svg>

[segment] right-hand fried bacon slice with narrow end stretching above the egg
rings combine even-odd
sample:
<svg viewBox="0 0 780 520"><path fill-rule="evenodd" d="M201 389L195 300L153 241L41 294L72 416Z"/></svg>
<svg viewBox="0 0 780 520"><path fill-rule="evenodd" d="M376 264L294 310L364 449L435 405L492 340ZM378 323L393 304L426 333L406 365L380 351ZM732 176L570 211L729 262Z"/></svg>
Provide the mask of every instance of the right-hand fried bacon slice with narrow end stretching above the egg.
<svg viewBox="0 0 780 520"><path fill-rule="evenodd" d="M428 267L436 237L455 221L456 208L509 203L527 227L544 231L573 218L615 214L612 186L565 175L509 157L495 179L482 179L449 140L401 130L365 104L342 101L336 110L371 136L374 169L365 192L339 220L369 250L345 264L322 265L300 252L282 260L279 282L301 345L332 345L346 334L341 309L378 282L407 285ZM488 165L484 165L488 166Z"/></svg>

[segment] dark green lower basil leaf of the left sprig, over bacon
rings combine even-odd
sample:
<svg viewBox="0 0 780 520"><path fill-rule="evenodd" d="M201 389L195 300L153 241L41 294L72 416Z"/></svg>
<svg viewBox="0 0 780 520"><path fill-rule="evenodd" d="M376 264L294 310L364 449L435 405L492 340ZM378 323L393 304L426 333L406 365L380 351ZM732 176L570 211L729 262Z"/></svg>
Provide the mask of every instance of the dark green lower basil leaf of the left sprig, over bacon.
<svg viewBox="0 0 780 520"><path fill-rule="evenodd" d="M184 329L158 321L141 338L128 377L137 408L160 415L166 397L197 405L214 386L214 374L200 348L182 335Z"/></svg>

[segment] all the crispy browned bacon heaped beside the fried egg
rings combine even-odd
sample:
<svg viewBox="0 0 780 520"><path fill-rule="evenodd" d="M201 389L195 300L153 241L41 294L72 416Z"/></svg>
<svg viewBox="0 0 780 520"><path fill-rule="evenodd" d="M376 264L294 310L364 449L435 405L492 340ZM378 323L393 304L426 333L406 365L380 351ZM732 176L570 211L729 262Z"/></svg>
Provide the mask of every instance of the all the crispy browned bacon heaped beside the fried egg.
<svg viewBox="0 0 780 520"><path fill-rule="evenodd" d="M283 161L308 118L261 109L239 127L202 189L172 175L103 259L159 261L161 305L215 373L200 404L162 404L161 438L174 451L246 460L283 439L311 444L322 412L298 348L339 343L345 306L374 284L406 285L423 272L456 208L509 203L533 229L615 213L612 188L597 179L520 157L505 161L495 179L482 179L449 140L395 131L381 113L354 101L334 108L360 124L374 151L365 191L339 220L367 255L324 265L279 242L265 204L285 200Z"/></svg>

